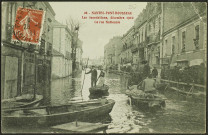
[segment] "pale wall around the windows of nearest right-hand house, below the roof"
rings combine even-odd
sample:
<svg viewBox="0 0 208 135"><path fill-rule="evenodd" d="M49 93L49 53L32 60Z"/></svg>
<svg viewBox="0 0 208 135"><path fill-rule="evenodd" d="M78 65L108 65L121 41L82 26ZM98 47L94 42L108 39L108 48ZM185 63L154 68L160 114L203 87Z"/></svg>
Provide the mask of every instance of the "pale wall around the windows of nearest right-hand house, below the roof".
<svg viewBox="0 0 208 135"><path fill-rule="evenodd" d="M199 49L197 50L194 44L193 39L195 39L195 26L199 25ZM204 37L204 29L205 24L200 19L194 20L178 29L170 32L166 36L164 36L163 44L163 57L167 56L170 57L172 54L172 37L175 36L175 44L174 44L174 52L175 55L173 56L172 63L176 63L176 60L194 60L194 59L203 59L204 58L204 43L206 42ZM186 38L185 38L185 52L182 52L182 32L186 31ZM167 44L166 44L167 41ZM200 52L200 53L199 53Z"/></svg>

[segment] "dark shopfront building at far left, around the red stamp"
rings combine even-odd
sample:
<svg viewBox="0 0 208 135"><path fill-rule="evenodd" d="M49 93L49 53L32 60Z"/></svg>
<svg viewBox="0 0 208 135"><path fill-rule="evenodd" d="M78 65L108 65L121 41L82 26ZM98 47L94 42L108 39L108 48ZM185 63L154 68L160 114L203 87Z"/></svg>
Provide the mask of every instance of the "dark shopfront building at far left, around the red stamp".
<svg viewBox="0 0 208 135"><path fill-rule="evenodd" d="M45 18L40 45L11 40L18 7L44 10ZM1 46L2 99L24 93L47 96L51 81L51 22L55 13L48 2L3 2Z"/></svg>

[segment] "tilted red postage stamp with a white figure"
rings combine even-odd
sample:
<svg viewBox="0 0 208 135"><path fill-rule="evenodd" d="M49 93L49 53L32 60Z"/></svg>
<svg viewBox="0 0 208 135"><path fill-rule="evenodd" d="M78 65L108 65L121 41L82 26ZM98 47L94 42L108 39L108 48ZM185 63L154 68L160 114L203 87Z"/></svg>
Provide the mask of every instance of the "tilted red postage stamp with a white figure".
<svg viewBox="0 0 208 135"><path fill-rule="evenodd" d="M44 16L45 12L43 10L19 7L17 9L12 40L38 44L43 30Z"/></svg>

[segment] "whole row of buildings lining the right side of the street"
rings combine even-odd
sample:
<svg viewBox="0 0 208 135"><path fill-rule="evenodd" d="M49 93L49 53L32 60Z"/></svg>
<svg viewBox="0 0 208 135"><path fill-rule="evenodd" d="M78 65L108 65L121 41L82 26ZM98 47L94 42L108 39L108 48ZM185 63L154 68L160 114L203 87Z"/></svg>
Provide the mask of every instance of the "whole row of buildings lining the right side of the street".
<svg viewBox="0 0 208 135"><path fill-rule="evenodd" d="M206 9L203 2L148 2L122 36L120 64L140 69L147 61L160 74L162 66L206 63ZM111 51L105 49L105 63L114 58Z"/></svg>

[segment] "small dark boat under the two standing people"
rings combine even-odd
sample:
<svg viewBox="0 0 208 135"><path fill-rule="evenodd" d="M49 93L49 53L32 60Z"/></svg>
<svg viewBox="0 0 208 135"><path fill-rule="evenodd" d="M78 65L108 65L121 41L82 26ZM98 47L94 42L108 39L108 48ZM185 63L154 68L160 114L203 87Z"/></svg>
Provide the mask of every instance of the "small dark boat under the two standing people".
<svg viewBox="0 0 208 135"><path fill-rule="evenodd" d="M104 86L95 86L89 88L90 94L100 94L100 95L105 95L108 93L109 86L104 85Z"/></svg>

